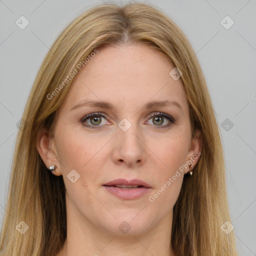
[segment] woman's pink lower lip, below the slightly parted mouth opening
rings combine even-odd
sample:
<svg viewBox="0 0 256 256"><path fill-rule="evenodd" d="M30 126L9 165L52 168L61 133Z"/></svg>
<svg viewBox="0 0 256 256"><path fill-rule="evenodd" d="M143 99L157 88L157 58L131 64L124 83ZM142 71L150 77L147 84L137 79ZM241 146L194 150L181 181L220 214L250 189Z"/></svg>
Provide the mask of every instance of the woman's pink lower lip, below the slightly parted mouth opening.
<svg viewBox="0 0 256 256"><path fill-rule="evenodd" d="M130 189L122 189L116 186L104 186L104 187L109 193L125 200L138 198L148 193L152 189L151 187L143 187L143 186L137 187L137 188L130 188Z"/></svg>

